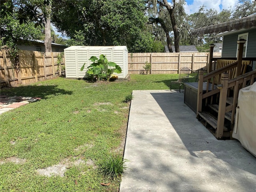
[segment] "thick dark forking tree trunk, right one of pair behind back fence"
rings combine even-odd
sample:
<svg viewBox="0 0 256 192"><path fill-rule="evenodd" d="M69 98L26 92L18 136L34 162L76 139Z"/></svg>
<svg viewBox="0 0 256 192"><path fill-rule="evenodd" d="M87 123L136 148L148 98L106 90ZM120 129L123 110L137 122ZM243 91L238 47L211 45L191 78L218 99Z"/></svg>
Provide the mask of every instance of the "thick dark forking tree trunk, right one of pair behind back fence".
<svg viewBox="0 0 256 192"><path fill-rule="evenodd" d="M180 32L178 31L178 27L176 25L176 20L174 17L174 8L175 8L175 0L172 0L173 5L170 6L167 2L167 0L163 0L164 1L164 6L167 8L169 14L170 14L170 18L171 18L171 22L172 22L172 30L174 33L174 47L175 47L175 52L180 52L180 46L179 46L179 42L180 42Z"/></svg>

